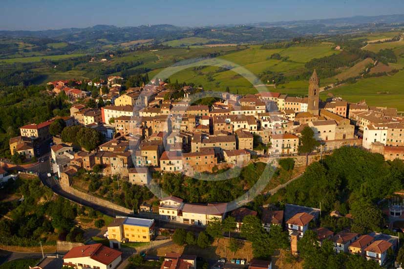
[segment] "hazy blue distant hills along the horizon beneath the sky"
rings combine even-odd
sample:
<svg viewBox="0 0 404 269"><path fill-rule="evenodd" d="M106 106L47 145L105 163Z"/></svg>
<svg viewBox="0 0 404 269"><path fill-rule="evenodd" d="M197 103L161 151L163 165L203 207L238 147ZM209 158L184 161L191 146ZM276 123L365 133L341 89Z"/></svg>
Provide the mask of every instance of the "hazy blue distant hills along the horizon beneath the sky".
<svg viewBox="0 0 404 269"><path fill-rule="evenodd" d="M95 25L87 28L65 28L43 31L0 31L0 38L48 38L84 47L150 39L156 43L161 43L190 37L212 40L206 41L206 43L252 43L280 41L303 35L336 35L366 31L386 31L392 28L399 29L401 26L404 27L404 15L383 15L193 28L170 24L141 25L135 27Z"/></svg>

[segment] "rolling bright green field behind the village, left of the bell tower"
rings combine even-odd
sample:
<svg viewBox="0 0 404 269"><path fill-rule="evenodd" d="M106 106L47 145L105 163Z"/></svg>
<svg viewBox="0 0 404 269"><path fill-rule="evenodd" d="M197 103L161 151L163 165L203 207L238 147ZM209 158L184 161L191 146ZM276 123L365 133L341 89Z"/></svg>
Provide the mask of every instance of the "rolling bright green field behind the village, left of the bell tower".
<svg viewBox="0 0 404 269"><path fill-rule="evenodd" d="M246 94L256 92L253 85L243 78L242 74L245 69L258 75L265 70L271 70L284 73L285 75L293 75L304 69L304 64L313 58L321 58L334 53L333 45L330 43L319 43L313 46L293 46L285 49L261 49L261 46L255 45L248 49L230 53L219 57L229 61L227 65L235 68L224 72L216 72L218 66L209 66L201 70L185 69L171 76L171 81L202 84L207 89L215 91L224 91L229 87L231 92ZM279 53L282 57L289 57L287 61L267 60L274 53ZM245 68L245 69L244 69ZM152 72L155 75L158 71ZM241 74L241 75L240 75ZM213 81L209 81L208 76L213 77ZM267 83L267 82L262 82ZM268 87L269 90L274 90ZM279 85L276 91L283 90L285 93L294 95L302 95L307 92L307 83L287 83Z"/></svg>

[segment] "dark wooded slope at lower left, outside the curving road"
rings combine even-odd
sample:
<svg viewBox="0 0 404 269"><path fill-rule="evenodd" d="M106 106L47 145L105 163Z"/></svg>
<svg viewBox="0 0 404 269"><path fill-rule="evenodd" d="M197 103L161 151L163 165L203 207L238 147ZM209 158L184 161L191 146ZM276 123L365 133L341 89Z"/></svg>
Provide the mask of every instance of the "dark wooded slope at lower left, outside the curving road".
<svg viewBox="0 0 404 269"><path fill-rule="evenodd" d="M59 240L84 241L83 231L74 222L78 214L85 214L84 208L63 197L53 199L53 192L38 178L11 180L4 189L7 193L21 194L23 200L0 203L2 214L11 210L10 218L0 221L1 244L38 246L39 241L54 244L54 235Z"/></svg>

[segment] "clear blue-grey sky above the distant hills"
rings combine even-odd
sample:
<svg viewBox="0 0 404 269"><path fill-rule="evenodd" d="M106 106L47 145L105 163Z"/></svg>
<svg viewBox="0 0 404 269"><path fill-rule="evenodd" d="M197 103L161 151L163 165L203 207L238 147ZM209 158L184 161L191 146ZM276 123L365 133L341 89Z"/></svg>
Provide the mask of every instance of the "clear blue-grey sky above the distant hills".
<svg viewBox="0 0 404 269"><path fill-rule="evenodd" d="M403 13L403 0L1 0L0 30L206 26Z"/></svg>

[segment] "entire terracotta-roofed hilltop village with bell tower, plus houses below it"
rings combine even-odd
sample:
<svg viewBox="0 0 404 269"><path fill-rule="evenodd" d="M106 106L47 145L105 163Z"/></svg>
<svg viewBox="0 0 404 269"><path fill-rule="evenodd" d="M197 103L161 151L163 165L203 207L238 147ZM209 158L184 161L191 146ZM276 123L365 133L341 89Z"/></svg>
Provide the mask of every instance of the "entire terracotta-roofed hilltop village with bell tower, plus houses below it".
<svg viewBox="0 0 404 269"><path fill-rule="evenodd" d="M305 160L311 163L343 146L363 147L382 154L385 160L404 160L404 122L397 110L334 97L323 102L319 98L323 89L319 87L316 71L304 98L276 92L245 96L223 92L220 98L206 98L204 94L209 96L209 91L201 87L185 85L172 89L159 79L123 91L123 81L122 77L109 76L106 81L85 82L99 88L98 100L75 88L83 82L47 83L49 94L63 93L67 97L66 101L71 103L70 116L21 126L21 135L10 139L11 154L44 159L50 146L53 176L66 188L72 186L82 170L97 170L103 176L116 176L132 185L150 186L155 173L183 173L192 177L245 167L256 160L270 163L286 158L303 160L300 165L304 166ZM201 98L194 101L195 96ZM308 134L317 141L316 146L302 150L302 138ZM144 218L116 217L107 227L109 247L154 241L161 235L157 220L206 228L224 223L231 216L234 218L231 231L237 233L242 231L245 218L257 215L246 207L228 212L227 203L195 204L171 195L160 198L157 217L147 217L150 210L151 205L145 203L139 207L145 213ZM274 227L285 230L294 255L298 254L298 241L307 231L314 233L316 244L328 239L336 253L357 253L379 265L387 261L388 251L399 248L398 237L394 235L344 230L334 233L318 227L320 212L320 208L291 204L286 204L284 210L267 207L262 211L259 226L262 232L271 233L277 229ZM339 212L334 214L338 216ZM250 236L254 238L253 234ZM203 239L198 237L199 240ZM63 264L73 268L118 268L122 252L110 248L101 244L72 248L64 256ZM244 268L245 262L239 259L231 263ZM195 255L170 252L164 257L161 269L196 268L196 263ZM215 268L226 264L225 259L220 259ZM249 262L250 269L272 266L270 259Z"/></svg>

